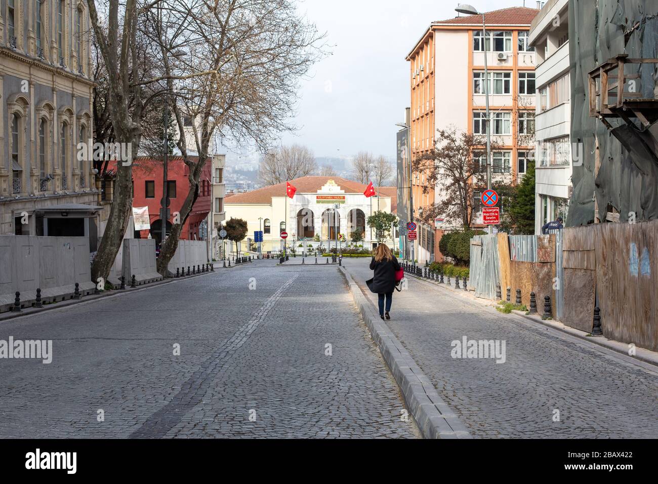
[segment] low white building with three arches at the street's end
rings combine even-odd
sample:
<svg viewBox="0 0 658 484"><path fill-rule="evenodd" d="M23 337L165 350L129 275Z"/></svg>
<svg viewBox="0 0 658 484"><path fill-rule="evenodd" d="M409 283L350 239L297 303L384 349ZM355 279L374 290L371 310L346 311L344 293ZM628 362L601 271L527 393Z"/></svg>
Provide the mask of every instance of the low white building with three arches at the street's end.
<svg viewBox="0 0 658 484"><path fill-rule="evenodd" d="M349 242L352 232L360 230L364 240L359 244L372 248L376 237L366 226L367 217L376 211L395 213L393 186L375 187L377 196L368 198L363 194L366 185L337 176L303 176L289 182L297 188L293 198L286 196L286 182L226 195L226 220L247 221L245 242L253 240L255 231L263 230L263 251L278 250L282 246L280 234L286 231L288 246L302 241L310 244L319 236L320 244L324 242L326 247L328 241L336 241L337 234L339 240ZM386 242L393 244L392 240Z"/></svg>

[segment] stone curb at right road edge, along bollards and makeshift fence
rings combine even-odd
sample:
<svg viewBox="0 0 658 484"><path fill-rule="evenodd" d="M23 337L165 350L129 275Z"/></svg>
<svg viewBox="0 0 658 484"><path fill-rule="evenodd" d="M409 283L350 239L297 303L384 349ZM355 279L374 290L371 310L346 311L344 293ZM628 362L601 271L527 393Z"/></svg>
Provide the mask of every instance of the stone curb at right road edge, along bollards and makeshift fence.
<svg viewBox="0 0 658 484"><path fill-rule="evenodd" d="M426 282L434 287L445 286L445 284L436 284L434 281L428 281L423 277L418 277L413 274L405 273L405 277L413 277L414 279L417 279L417 281ZM443 287L443 289L451 290L452 288ZM483 304L487 304L487 305L496 304L495 300L475 298L474 296L472 296L472 291L468 291L470 294L463 294L463 291L459 289L454 290L454 292L458 293L462 297L470 295L471 297L468 299L472 301L482 302ZM511 314L517 317L522 317L525 321L532 321L533 323L539 323L540 325L544 325L545 327L557 329L557 331L561 331L562 333L566 333L567 335L570 336L575 336L576 338L580 338L582 340L585 340L592 344L596 344L597 346L601 346L608 350L613 350L614 352L623 354L624 356L628 356L629 358L634 358L641 362L658 366L658 352L647 350L646 348L641 348L640 346L638 346L636 347L636 354L634 356L630 356L628 354L628 344L626 343L622 343L617 340L611 340L605 338L605 336L588 336L589 333L587 333L586 331L580 331L580 329L569 327L567 325L564 325L563 323L560 323L559 321L541 319L540 315L530 316L526 313L523 313L522 311L512 311Z"/></svg>

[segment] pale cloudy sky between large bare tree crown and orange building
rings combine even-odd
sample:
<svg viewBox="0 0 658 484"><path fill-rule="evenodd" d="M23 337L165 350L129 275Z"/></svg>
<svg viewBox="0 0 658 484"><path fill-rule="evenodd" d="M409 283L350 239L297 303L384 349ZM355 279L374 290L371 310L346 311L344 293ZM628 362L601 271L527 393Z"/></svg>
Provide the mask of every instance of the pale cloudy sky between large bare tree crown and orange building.
<svg viewBox="0 0 658 484"><path fill-rule="evenodd" d="M301 82L295 134L316 157L351 156L360 150L394 159L396 122L409 106L405 57L433 20L457 15L451 0L299 0L332 55ZM462 3L466 3L463 1ZM478 10L522 7L522 0L470 0ZM534 7L536 2L526 2ZM340 151L339 151L340 150Z"/></svg>

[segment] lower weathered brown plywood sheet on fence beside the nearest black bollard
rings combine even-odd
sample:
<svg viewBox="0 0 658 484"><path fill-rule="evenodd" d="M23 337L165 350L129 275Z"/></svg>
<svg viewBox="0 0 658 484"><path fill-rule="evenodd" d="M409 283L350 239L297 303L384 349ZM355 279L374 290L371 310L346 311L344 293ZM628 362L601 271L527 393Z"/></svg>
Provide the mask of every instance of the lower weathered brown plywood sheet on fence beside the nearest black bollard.
<svg viewBox="0 0 658 484"><path fill-rule="evenodd" d="M565 267L565 309L562 322L581 331L592 331L594 322L595 271Z"/></svg>

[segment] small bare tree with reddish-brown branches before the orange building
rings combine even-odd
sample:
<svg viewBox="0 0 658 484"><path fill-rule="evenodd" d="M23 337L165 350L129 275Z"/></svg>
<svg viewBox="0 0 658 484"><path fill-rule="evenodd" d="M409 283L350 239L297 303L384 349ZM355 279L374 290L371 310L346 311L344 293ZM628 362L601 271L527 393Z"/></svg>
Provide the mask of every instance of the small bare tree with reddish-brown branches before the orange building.
<svg viewBox="0 0 658 484"><path fill-rule="evenodd" d="M460 134L453 126L437 134L432 151L411 164L414 172L426 173L423 191L434 187L441 194L440 202L422 207L422 219L431 223L434 217L445 217L468 229L476 213L473 190L486 187L485 158L478 156L485 151L486 140L475 134ZM493 143L492 151L497 148Z"/></svg>

